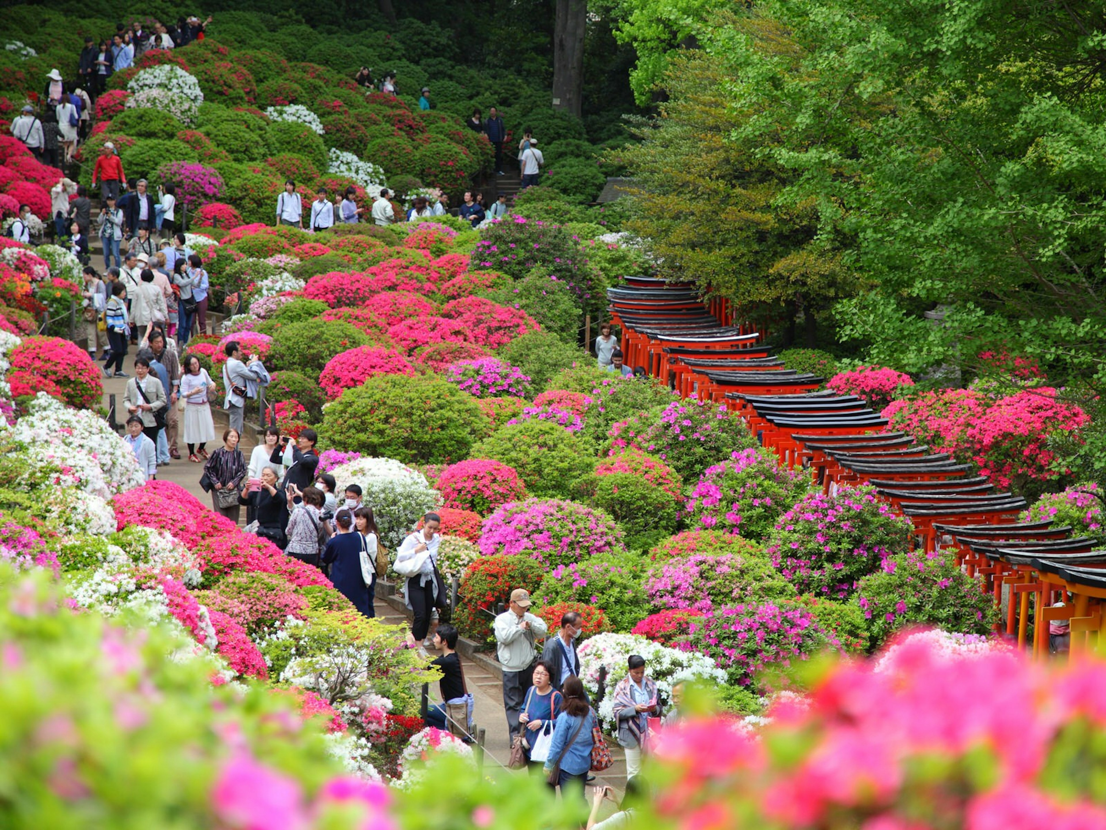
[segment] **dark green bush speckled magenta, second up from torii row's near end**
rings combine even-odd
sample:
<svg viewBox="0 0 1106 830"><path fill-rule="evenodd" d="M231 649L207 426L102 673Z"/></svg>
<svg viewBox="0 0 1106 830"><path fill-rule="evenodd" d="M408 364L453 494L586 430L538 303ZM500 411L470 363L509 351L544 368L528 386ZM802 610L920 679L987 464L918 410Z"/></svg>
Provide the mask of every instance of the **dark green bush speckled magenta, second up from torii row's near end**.
<svg viewBox="0 0 1106 830"><path fill-rule="evenodd" d="M846 596L883 560L910 547L912 526L876 497L873 487L836 496L804 496L769 533L772 563L800 593Z"/></svg>

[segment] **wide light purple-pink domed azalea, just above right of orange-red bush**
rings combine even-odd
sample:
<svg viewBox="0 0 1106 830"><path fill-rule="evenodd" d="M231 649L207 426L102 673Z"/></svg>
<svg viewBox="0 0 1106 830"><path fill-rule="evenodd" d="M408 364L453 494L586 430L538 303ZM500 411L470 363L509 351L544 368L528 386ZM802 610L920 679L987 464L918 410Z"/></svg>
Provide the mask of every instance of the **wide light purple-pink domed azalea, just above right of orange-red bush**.
<svg viewBox="0 0 1106 830"><path fill-rule="evenodd" d="M510 501L481 530L482 554L528 556L551 568L624 550L622 531L606 513L562 499Z"/></svg>

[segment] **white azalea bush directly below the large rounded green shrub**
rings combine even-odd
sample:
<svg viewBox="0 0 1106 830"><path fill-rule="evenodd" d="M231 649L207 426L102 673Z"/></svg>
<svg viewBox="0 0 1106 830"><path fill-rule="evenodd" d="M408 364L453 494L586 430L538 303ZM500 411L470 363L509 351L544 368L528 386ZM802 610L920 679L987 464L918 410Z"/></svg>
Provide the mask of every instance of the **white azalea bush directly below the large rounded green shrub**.
<svg viewBox="0 0 1106 830"><path fill-rule="evenodd" d="M361 486L365 504L373 506L380 539L393 551L422 513L441 506L441 494L430 487L426 476L394 458L358 458L330 473L337 481L337 492L352 484Z"/></svg>

